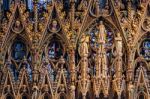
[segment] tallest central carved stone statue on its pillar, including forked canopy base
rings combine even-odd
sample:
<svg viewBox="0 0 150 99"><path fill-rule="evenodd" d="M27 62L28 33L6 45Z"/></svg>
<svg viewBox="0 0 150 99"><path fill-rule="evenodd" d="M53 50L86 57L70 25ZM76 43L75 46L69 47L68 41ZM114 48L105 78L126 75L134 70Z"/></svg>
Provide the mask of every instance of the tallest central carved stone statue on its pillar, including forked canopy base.
<svg viewBox="0 0 150 99"><path fill-rule="evenodd" d="M105 97L108 96L109 90L109 76L107 75L108 67L107 67L107 56L105 50L106 44L106 30L103 21L100 21L98 25L98 34L97 34L97 50L96 50L96 58L95 58L95 66L96 66L96 77L94 78L94 91L95 95L98 98L101 91L104 92ZM102 89L102 87L104 87ZM106 87L107 86L107 87Z"/></svg>

